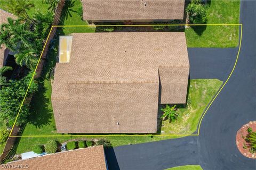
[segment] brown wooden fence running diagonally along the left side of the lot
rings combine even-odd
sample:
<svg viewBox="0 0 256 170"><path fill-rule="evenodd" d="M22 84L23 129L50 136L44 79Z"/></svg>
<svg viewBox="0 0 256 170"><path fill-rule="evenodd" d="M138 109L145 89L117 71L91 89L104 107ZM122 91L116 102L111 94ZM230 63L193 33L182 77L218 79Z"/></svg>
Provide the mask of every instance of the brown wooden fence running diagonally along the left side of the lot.
<svg viewBox="0 0 256 170"><path fill-rule="evenodd" d="M61 19L62 9L63 9L64 5L65 5L65 0L61 0L59 2L58 6L56 7L52 25L58 25L59 24L60 19ZM46 45L45 45L45 48L43 50L41 61L39 61L39 64L37 66L35 78L41 77L41 74L42 74L43 68L44 68L44 64L47 60L47 52L48 52L48 49L50 47L51 41L53 40L53 38L55 36L56 31L57 31L57 27L53 27L48 40L46 41L46 39L45 39ZM26 101L28 103L30 102L30 100L31 100L31 97L26 99ZM22 132L23 132L24 128L25 128L25 126L20 127L20 126L14 125L11 135L13 135L13 136L22 135ZM11 159L15 155L15 152L16 152L16 149L17 149L17 146L18 146L18 139L20 139L20 137L9 137L7 139L6 145L5 145L4 150L3 150L3 154L0 156L1 164L4 163L5 160Z"/></svg>

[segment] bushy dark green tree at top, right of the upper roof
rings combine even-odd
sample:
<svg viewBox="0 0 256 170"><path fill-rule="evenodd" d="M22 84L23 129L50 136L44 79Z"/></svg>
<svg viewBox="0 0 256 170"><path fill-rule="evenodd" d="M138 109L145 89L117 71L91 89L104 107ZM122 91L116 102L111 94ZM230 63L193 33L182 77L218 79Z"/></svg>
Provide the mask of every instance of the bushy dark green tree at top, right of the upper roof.
<svg viewBox="0 0 256 170"><path fill-rule="evenodd" d="M189 21L194 24L202 24L207 21L207 7L200 1L191 1L186 12L189 14Z"/></svg>

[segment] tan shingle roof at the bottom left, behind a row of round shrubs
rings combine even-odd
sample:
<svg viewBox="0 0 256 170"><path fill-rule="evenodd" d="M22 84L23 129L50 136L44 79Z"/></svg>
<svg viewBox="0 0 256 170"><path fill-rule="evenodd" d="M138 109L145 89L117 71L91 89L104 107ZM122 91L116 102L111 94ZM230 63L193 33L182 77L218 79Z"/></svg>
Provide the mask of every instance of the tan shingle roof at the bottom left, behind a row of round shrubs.
<svg viewBox="0 0 256 170"><path fill-rule="evenodd" d="M9 168L7 166L9 165ZM76 149L56 154L47 154L25 160L1 165L1 169L17 169L15 166L23 166L25 169L97 169L106 170L106 160L102 146ZM28 166L28 168L26 168ZM5 168L4 168L5 167Z"/></svg>

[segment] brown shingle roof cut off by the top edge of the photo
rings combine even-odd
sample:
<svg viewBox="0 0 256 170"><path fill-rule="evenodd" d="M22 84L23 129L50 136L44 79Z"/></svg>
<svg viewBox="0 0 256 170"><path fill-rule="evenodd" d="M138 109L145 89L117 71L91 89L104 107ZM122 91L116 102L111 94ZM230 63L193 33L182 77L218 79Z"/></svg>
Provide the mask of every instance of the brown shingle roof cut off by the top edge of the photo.
<svg viewBox="0 0 256 170"><path fill-rule="evenodd" d="M185 1L82 0L82 5L84 20L182 20Z"/></svg>

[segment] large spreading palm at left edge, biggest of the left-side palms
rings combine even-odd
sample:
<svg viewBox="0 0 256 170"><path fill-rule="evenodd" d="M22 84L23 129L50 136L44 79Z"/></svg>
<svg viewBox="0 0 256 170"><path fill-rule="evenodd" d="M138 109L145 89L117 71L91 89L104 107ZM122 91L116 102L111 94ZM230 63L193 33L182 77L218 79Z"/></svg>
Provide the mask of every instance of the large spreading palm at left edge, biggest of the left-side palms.
<svg viewBox="0 0 256 170"><path fill-rule="evenodd" d="M4 44L7 48L15 51L17 46L31 47L32 40L35 38L33 32L28 30L26 23L20 22L21 20L7 19L7 23L3 23L0 29L0 45Z"/></svg>

